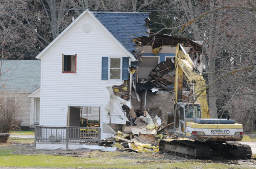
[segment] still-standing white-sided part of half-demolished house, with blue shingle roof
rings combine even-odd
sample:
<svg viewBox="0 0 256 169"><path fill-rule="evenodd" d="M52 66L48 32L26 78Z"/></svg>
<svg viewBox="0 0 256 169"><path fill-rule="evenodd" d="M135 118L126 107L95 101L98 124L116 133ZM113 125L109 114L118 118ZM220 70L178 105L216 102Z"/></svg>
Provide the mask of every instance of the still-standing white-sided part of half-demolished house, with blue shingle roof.
<svg viewBox="0 0 256 169"><path fill-rule="evenodd" d="M106 138L129 121L122 106L131 99L133 38L147 36L148 15L84 11L38 54L40 126L80 127L85 119ZM113 97L120 88L128 94Z"/></svg>

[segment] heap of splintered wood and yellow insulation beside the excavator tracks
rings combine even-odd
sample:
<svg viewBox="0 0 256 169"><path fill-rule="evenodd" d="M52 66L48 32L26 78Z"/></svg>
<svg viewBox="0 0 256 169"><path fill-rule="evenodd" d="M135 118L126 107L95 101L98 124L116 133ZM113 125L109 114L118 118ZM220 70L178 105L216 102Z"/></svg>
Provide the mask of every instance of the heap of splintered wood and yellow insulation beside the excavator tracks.
<svg viewBox="0 0 256 169"><path fill-rule="evenodd" d="M143 113L144 115L141 115L135 121L137 126L125 127L123 132L118 131L115 136L103 139L100 146L116 147L116 151L159 152L158 144L160 140L184 139L177 138L174 134L170 135L167 132L166 128L173 123L163 127L163 123L157 115L152 119L147 111L143 111Z"/></svg>

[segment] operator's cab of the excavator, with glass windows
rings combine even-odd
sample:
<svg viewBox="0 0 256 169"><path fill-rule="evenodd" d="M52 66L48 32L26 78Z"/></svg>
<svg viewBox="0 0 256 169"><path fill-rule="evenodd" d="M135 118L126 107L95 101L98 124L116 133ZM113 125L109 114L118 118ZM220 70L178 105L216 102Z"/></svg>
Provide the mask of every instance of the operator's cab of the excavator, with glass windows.
<svg viewBox="0 0 256 169"><path fill-rule="evenodd" d="M176 131L176 117L179 118L179 130ZM201 118L201 104L198 103L177 103L175 107L174 131L181 135L186 135L186 122Z"/></svg>

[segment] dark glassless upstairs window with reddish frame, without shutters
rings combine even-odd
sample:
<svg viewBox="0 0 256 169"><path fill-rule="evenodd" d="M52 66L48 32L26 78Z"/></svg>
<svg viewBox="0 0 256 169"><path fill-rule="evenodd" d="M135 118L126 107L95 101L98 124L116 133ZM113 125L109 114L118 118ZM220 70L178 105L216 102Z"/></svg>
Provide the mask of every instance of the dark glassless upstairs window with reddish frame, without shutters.
<svg viewBox="0 0 256 169"><path fill-rule="evenodd" d="M76 54L62 54L62 73L76 73Z"/></svg>

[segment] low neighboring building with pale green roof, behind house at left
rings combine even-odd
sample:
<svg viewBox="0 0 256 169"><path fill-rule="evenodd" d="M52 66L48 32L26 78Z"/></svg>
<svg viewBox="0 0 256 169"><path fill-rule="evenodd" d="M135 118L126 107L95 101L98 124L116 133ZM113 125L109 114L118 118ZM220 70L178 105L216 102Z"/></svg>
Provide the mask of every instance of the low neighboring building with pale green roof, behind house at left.
<svg viewBox="0 0 256 169"><path fill-rule="evenodd" d="M18 107L21 127L33 128L40 119L40 60L2 60L0 92Z"/></svg>

